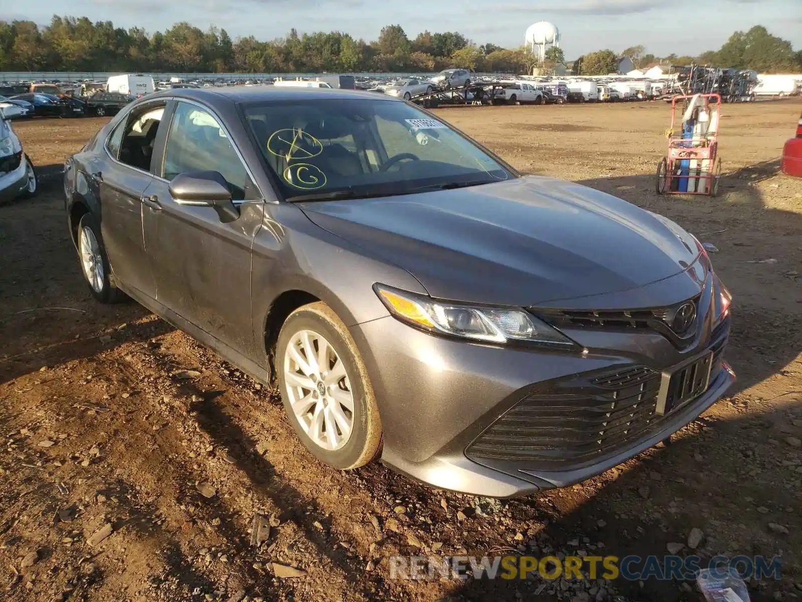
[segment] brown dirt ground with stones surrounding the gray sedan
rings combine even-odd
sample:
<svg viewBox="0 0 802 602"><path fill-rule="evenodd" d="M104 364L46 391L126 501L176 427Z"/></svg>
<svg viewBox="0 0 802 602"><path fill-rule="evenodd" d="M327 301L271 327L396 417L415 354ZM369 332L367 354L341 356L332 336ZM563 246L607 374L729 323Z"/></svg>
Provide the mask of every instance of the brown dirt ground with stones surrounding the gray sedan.
<svg viewBox="0 0 802 602"><path fill-rule="evenodd" d="M274 392L135 303L95 303L57 172L103 120L18 122L35 165L56 175L0 207L0 599L701 600L672 580L389 577L396 554L622 558L678 543L687 555L692 528L703 558L780 557L781 579L752 580L752 600L802 599L802 180L777 173L800 111L725 106L726 176L710 198L654 193L663 103L439 110L519 169L617 194L712 242L735 295L729 397L670 445L502 502L379 464L321 466ZM259 546L254 515L272 525Z"/></svg>

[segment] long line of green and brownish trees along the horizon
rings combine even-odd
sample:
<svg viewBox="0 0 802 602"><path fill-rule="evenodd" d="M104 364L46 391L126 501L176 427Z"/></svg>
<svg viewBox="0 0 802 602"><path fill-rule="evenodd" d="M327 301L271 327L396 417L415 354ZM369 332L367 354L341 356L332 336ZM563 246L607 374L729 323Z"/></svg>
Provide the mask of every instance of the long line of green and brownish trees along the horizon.
<svg viewBox="0 0 802 602"><path fill-rule="evenodd" d="M736 31L719 51L699 57L656 57L642 46L618 54L602 50L568 63L577 75L606 75L623 55L635 67L700 63L761 72L802 71L802 51L762 26ZM399 25L383 27L366 42L339 31L281 39L232 39L225 29L202 31L188 22L149 35L141 27L124 29L111 21L54 15L48 26L31 21L0 21L0 71L132 71L181 73L319 73L439 71L448 67L499 73L555 71L565 63L561 48L549 48L543 63L525 48L477 45L456 31L423 31L410 39Z"/></svg>

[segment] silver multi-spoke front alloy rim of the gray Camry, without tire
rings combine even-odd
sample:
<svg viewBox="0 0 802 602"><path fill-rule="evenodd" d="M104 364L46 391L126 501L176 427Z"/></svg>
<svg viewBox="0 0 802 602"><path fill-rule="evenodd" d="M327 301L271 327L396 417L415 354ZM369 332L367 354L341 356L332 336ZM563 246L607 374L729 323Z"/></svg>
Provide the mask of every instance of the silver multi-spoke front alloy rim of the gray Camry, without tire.
<svg viewBox="0 0 802 602"><path fill-rule="evenodd" d="M322 335L296 332L284 354L286 394L295 419L315 445L341 449L354 429L354 394L345 364Z"/></svg>

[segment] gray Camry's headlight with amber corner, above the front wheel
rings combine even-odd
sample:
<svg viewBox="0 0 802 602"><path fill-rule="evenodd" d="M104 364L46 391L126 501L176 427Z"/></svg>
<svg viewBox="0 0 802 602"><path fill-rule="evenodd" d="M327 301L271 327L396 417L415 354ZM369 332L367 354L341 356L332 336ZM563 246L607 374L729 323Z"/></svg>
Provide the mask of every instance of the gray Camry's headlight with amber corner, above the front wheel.
<svg viewBox="0 0 802 602"><path fill-rule="evenodd" d="M376 294L396 318L427 332L489 343L530 343L556 348L577 344L528 311L435 301L425 295L375 285Z"/></svg>

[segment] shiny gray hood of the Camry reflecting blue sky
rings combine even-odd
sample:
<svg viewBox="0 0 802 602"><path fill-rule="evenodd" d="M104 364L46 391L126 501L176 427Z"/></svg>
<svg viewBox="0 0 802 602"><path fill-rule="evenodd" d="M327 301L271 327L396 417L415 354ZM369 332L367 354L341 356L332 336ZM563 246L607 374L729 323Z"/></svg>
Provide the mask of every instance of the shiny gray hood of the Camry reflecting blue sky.
<svg viewBox="0 0 802 602"><path fill-rule="evenodd" d="M440 299L530 306L626 291L686 270L699 254L673 222L546 177L300 205Z"/></svg>

